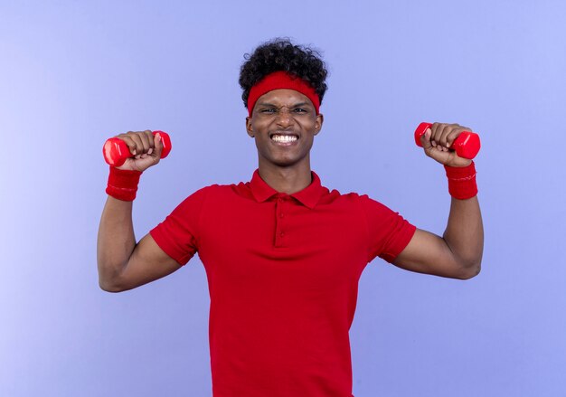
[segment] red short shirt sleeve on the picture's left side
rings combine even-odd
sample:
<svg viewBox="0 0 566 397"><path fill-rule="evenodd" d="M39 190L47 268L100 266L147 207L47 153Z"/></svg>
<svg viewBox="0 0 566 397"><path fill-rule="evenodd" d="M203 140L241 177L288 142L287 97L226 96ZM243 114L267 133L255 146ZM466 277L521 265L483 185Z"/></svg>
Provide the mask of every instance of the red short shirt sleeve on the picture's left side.
<svg viewBox="0 0 566 397"><path fill-rule="evenodd" d="M184 199L149 233L167 255L184 266L198 250L199 222L207 188Z"/></svg>

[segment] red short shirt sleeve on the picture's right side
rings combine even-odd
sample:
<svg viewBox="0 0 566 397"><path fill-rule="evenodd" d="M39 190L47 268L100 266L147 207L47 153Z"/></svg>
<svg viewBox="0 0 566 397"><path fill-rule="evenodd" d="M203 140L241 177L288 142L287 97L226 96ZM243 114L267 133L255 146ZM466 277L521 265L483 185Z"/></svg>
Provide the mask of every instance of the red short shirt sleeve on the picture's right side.
<svg viewBox="0 0 566 397"><path fill-rule="evenodd" d="M360 196L360 202L369 231L368 262L379 256L391 263L409 244L417 228L367 195Z"/></svg>

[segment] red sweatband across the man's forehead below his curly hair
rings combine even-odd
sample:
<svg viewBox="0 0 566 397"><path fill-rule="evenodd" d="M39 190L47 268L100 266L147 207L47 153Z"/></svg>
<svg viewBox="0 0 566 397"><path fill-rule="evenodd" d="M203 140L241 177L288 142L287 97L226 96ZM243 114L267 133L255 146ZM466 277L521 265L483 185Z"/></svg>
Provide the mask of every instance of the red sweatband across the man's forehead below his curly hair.
<svg viewBox="0 0 566 397"><path fill-rule="evenodd" d="M253 107L256 105L260 96L269 91L281 89L296 90L305 95L311 102L313 102L316 114L318 114L320 99L318 98L316 90L307 83L307 81L300 79L296 75L290 74L287 71L274 71L251 87L250 96L248 97L248 111L250 112L250 117Z"/></svg>

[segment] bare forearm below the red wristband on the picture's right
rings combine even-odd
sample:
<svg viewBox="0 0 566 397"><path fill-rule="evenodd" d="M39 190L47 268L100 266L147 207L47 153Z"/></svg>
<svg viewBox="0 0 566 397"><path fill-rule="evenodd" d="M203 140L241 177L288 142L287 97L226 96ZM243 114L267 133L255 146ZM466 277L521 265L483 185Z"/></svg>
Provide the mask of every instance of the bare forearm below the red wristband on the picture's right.
<svg viewBox="0 0 566 397"><path fill-rule="evenodd" d="M460 266L479 272L484 251L484 226L477 196L467 200L452 198L443 238Z"/></svg>

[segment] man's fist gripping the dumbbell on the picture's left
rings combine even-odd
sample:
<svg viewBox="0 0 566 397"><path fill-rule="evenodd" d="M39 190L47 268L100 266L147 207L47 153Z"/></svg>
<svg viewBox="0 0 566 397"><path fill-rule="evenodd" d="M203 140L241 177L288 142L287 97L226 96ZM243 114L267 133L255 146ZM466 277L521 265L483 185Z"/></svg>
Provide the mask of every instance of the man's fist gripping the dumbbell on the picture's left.
<svg viewBox="0 0 566 397"><path fill-rule="evenodd" d="M145 131L128 131L116 137L126 142L133 156L128 157L123 165L117 167L118 169L144 172L161 160L163 142L159 134L154 136L152 131L146 129Z"/></svg>

